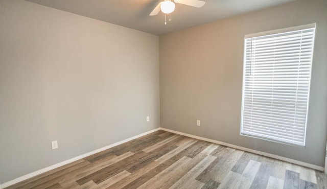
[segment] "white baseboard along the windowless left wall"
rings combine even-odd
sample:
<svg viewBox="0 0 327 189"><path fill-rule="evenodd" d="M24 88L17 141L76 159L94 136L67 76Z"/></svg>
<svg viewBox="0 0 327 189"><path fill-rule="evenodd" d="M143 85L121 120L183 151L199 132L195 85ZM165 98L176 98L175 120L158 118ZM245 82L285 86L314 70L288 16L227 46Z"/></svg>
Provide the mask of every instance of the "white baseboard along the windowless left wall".
<svg viewBox="0 0 327 189"><path fill-rule="evenodd" d="M114 143L114 144L111 144L111 145L105 146L105 147L103 147L103 148L99 148L99 149L97 149L97 150L94 150L94 151L91 151L91 152L88 152L88 153L85 153L85 154L79 155L79 156L77 156L77 157L73 157L73 158L71 158L71 159L68 159L68 160L62 161L62 162L57 163L57 164L54 164L54 165L52 165L52 166L49 166L49 167L46 167L46 168L40 169L40 170L38 170L38 171L35 171L35 172L32 172L32 173L29 173L29 174L27 174L27 175L24 175L24 176L21 176L21 177L15 178L15 179L13 179L13 180L11 180L11 181L8 181L8 182L5 182L5 183L1 184L1 185L0 185L0 189L1 189L1 188L8 187L8 186L11 186L11 185L16 184L16 183L18 183L18 182L21 182L21 181L23 181L23 180L26 180L26 179L32 178L32 177L37 176L37 175L39 175L39 174L45 173L45 172L47 172L47 171L50 171L50 170L53 170L53 169L59 168L59 167L61 167L61 166L64 166L65 164L68 164L68 163L71 163L71 162L73 162L73 161L76 161L76 160L82 159L82 158L87 157L87 156L89 156L89 155L96 154L96 153L98 153L98 152L101 152L101 151L107 150L107 149L109 149L109 148L112 148L112 147L115 147L115 146L121 145L121 144L123 144L123 143L126 143L127 141L130 141L130 140L133 140L133 139L135 139L135 138L138 138L138 137L141 137L141 136L144 136L144 135L150 134L150 133L155 132L155 131L158 131L158 130L160 130L160 128L156 128L156 129L153 129L153 130L151 130L151 131L147 131L147 132L144 132L144 133L138 134L138 135L136 135L136 136L132 136L132 137L127 138L127 139L125 139L125 140L121 140L121 141L119 141L119 142L117 142L117 143Z"/></svg>

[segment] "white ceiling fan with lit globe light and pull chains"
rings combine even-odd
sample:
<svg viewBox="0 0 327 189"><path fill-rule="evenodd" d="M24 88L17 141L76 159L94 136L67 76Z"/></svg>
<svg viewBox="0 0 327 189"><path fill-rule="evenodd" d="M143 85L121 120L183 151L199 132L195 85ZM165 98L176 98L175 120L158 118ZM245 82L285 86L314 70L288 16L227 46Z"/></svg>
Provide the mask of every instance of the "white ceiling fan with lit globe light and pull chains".
<svg viewBox="0 0 327 189"><path fill-rule="evenodd" d="M192 6L192 7L197 7L197 8L200 8L205 4L204 1L200 1L200 0L174 0L174 2L183 5ZM166 20L166 14L170 14L175 10L174 2L172 0L164 0L160 2L150 13L150 16L157 15L161 10L161 12L165 13L165 20ZM167 22L165 21L165 25L166 24Z"/></svg>

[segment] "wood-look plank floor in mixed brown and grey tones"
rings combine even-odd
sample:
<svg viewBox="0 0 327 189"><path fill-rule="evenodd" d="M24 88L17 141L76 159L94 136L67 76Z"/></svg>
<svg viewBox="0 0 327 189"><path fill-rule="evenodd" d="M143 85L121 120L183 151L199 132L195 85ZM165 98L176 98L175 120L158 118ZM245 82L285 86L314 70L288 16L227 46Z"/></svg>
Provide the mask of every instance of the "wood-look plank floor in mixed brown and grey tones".
<svg viewBox="0 0 327 189"><path fill-rule="evenodd" d="M327 176L160 130L7 188L327 188Z"/></svg>

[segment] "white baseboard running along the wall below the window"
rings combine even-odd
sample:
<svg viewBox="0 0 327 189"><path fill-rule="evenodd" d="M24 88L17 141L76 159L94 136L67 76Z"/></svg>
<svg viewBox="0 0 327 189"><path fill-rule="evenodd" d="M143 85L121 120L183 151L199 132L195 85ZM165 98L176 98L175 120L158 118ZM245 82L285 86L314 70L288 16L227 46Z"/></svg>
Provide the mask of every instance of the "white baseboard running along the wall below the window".
<svg viewBox="0 0 327 189"><path fill-rule="evenodd" d="M235 149L243 150L243 151L246 151L246 152L251 152L251 153L254 153L254 154L263 155L263 156L271 157L271 158L274 158L274 159L279 159L279 160L282 160L282 161L298 164L299 166L315 169L315 170L318 170L318 171L324 171L323 167L316 166L315 164L310 164L310 163L298 161L298 160L295 160L295 159L290 159L290 158L287 158L287 157L278 156L278 155L258 151L258 150L244 148L244 147L240 147L240 146L237 146L237 145L231 145L231 144L228 144L228 143L224 143L222 141L213 140L213 139L209 139L209 138L204 138L204 137L201 137L201 136L187 134L187 133L183 133L183 132L179 132L179 131L174 131L174 130L171 130L171 129L166 129L166 128L162 128L162 127L160 127L160 129L164 130L164 131L180 134L180 135L183 135L183 136L188 136L188 137L191 137L191 138L208 141L210 143L215 143L215 144L218 144L218 145L223 145L223 146L226 146L226 147L235 148Z"/></svg>

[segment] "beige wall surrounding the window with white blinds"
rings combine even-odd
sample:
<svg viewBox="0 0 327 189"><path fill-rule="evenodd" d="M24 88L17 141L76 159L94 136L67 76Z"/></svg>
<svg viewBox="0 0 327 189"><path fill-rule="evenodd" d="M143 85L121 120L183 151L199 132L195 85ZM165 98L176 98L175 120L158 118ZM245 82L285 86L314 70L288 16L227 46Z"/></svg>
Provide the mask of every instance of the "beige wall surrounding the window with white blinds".
<svg viewBox="0 0 327 189"><path fill-rule="evenodd" d="M323 167L326 18L327 1L303 0L160 36L161 127ZM313 22L317 29L306 148L241 136L244 35Z"/></svg>

